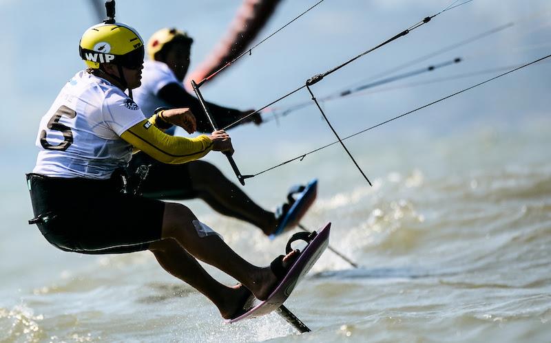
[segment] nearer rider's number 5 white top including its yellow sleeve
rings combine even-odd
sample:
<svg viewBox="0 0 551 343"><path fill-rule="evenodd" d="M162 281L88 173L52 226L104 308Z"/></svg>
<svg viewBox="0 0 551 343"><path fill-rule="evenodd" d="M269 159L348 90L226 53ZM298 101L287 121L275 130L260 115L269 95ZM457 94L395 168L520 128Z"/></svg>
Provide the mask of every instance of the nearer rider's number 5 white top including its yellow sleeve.
<svg viewBox="0 0 551 343"><path fill-rule="evenodd" d="M126 166L138 148L165 163L185 163L206 155L206 135L172 137L156 128L156 116L144 119L121 89L80 71L61 89L43 116L33 173L51 177L107 179Z"/></svg>

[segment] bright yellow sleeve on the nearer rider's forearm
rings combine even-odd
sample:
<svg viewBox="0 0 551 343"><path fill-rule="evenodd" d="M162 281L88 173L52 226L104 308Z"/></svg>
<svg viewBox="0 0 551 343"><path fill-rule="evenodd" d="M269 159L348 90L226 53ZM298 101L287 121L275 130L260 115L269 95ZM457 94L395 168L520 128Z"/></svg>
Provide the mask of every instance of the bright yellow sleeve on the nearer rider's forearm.
<svg viewBox="0 0 551 343"><path fill-rule="evenodd" d="M152 120L143 120L123 132L121 138L154 159L167 164L183 164L200 159L212 150L207 135L195 138L167 135L154 126Z"/></svg>

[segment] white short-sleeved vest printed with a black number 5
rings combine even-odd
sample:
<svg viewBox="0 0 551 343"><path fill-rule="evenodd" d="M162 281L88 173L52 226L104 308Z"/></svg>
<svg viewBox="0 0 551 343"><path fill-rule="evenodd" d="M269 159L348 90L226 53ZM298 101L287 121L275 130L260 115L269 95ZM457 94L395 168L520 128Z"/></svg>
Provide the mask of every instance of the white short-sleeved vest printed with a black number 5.
<svg viewBox="0 0 551 343"><path fill-rule="evenodd" d="M132 145L121 134L144 120L136 102L110 82L80 71L40 122L33 173L108 179L126 166Z"/></svg>

